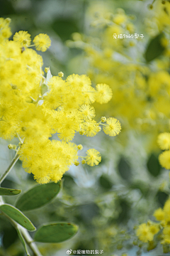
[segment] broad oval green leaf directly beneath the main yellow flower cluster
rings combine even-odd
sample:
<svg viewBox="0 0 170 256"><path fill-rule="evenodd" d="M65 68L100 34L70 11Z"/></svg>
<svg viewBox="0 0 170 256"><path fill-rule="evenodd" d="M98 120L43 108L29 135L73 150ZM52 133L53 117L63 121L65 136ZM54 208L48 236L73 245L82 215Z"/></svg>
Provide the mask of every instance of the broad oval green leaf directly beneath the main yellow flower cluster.
<svg viewBox="0 0 170 256"><path fill-rule="evenodd" d="M34 186L18 198L16 207L20 210L33 210L44 206L59 193L60 186L60 182Z"/></svg>

